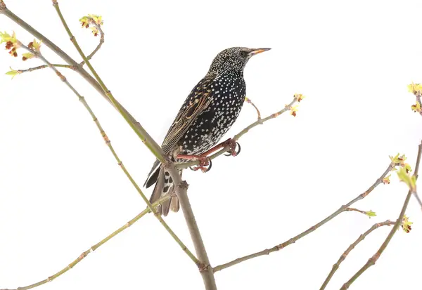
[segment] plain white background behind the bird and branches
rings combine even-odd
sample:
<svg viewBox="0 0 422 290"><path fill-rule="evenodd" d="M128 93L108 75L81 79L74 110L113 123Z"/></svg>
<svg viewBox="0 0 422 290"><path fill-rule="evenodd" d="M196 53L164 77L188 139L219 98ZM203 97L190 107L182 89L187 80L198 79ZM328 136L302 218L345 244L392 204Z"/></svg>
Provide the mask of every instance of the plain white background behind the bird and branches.
<svg viewBox="0 0 422 290"><path fill-rule="evenodd" d="M209 173L185 171L212 265L285 242L361 194L405 153L414 166L422 118L411 81L422 81L421 1L59 1L84 51L98 38L79 18L103 15L106 43L92 63L117 100L160 143L215 55L231 46L271 47L245 69L247 95L264 116L293 93L283 114L241 138L241 154ZM8 8L77 60L51 1ZM18 25L0 17L0 30ZM51 62L60 59L44 46ZM22 51L20 51L21 53ZM0 71L41 65L0 54ZM132 129L75 72L127 169L143 184L154 158ZM94 122L50 70L0 74L0 289L45 279L145 208ZM229 136L255 121L245 105ZM229 137L227 136L227 138ZM397 218L407 187L395 173L355 206L282 251L218 272L219 289L319 289L335 261L373 223ZM151 191L146 190L146 195ZM392 239L350 289L421 289L422 212L412 197L411 233ZM166 218L193 250L181 213ZM390 228L366 238L327 289L339 289ZM142 218L42 289L202 289L179 246L153 216Z"/></svg>

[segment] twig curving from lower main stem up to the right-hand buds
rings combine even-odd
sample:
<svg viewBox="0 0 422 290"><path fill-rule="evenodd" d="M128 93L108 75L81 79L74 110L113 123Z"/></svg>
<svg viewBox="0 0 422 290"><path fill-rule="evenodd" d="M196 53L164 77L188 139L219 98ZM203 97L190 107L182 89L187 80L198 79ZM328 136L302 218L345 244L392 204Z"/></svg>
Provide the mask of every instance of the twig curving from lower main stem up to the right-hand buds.
<svg viewBox="0 0 422 290"><path fill-rule="evenodd" d="M337 211L333 212L330 216L324 218L324 220L321 220L319 223L316 223L316 225L312 226L311 228L305 230L305 232L300 233L299 235L288 239L286 242L283 242L279 245L276 245L274 247L272 247L271 249L264 249L262 251L258 251L256 253L252 253L250 255L247 256L243 256L241 258L236 258L233 261L230 261L228 263L224 263L222 265L218 265L216 267L214 267L214 272L217 271L221 271L223 269L229 268L233 265L236 265L238 263L242 263L244 261L248 261L251 258L257 258L259 256L264 256L264 255L268 255L269 253L272 253L274 251L279 251L281 249L286 248L286 246L295 243L296 241L298 241L298 239L301 239L302 237L305 237L306 235L308 235L311 232L314 232L314 230L316 230L317 228L321 227L321 225L324 225L325 223L328 223L328 221L332 220L333 218L335 218L336 216L338 216L340 213L343 213L344 211L346 211L346 209L351 206L352 204L354 204L355 202L358 202L361 199L364 199L364 197L366 197L367 195L369 195L369 193L371 193L378 185L380 185L381 183L383 183L383 179L385 178L385 176L387 176L387 174L395 167L396 164L394 163L390 163L387 167L387 169L385 169L385 172L383 173L383 175L381 175L380 178L378 178L376 180L375 183L373 183L373 185L371 185L371 187L369 187L368 190L366 190L365 192L363 192L361 195L358 195L355 199L352 199L352 201L348 202L347 204L340 206L340 209L338 209Z"/></svg>

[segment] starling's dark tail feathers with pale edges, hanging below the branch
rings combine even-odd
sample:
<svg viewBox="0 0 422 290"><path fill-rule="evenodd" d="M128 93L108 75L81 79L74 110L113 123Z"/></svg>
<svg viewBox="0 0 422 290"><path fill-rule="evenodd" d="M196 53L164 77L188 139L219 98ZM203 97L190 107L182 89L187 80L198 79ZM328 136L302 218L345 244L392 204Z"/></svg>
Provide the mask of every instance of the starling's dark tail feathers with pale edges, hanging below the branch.
<svg viewBox="0 0 422 290"><path fill-rule="evenodd" d="M153 169L151 169L151 172L148 175L144 186L148 188L154 183L155 187L153 190L153 194L150 197L151 204L160 199L160 197L165 197L166 195L174 195L174 183L172 177L170 176L170 173L164 169L160 162L155 162ZM167 216L170 209L174 212L177 212L179 211L179 208L179 199L174 195L170 199L167 199L165 202L160 204L157 207L157 211L163 216Z"/></svg>

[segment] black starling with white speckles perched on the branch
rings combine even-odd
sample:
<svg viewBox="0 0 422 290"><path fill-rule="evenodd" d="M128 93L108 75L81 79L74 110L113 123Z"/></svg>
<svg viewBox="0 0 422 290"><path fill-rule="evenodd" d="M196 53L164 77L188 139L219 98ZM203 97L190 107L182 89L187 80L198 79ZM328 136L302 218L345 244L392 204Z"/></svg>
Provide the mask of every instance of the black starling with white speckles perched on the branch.
<svg viewBox="0 0 422 290"><path fill-rule="evenodd" d="M269 49L232 47L218 53L205 77L193 87L181 105L162 142L163 152L173 157L177 154L198 156L217 145L241 112L246 95L243 79L246 63L253 55ZM186 159L174 161L186 162ZM143 186L148 188L153 184L151 203L172 195L157 207L158 213L167 216L170 209L179 211L172 177L159 160L153 164Z"/></svg>

